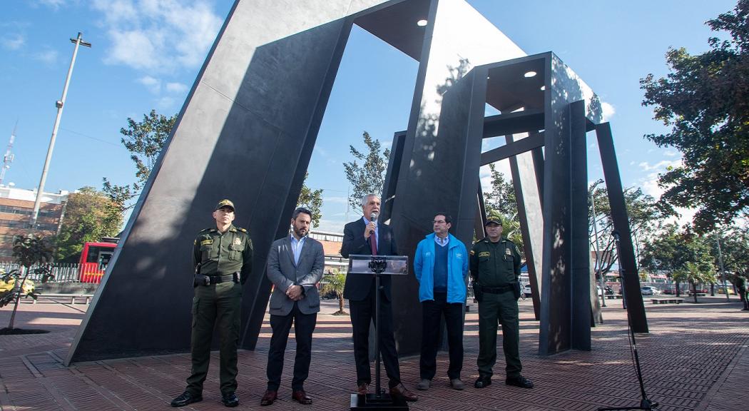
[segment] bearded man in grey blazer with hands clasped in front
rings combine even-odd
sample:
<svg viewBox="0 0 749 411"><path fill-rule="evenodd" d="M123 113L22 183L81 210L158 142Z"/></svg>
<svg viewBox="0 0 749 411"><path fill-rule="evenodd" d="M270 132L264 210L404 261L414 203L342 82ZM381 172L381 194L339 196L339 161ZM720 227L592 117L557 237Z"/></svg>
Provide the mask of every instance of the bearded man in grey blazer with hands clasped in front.
<svg viewBox="0 0 749 411"><path fill-rule="evenodd" d="M291 217L291 233L276 240L268 253L267 275L275 285L270 296L270 327L273 336L268 350L268 388L260 405L270 405L278 398L283 372L283 356L291 323L297 338L297 358L291 398L300 404L312 404L304 392L312 356L312 332L320 311L320 294L315 284L323 276L323 245L309 238L312 212L297 208Z"/></svg>

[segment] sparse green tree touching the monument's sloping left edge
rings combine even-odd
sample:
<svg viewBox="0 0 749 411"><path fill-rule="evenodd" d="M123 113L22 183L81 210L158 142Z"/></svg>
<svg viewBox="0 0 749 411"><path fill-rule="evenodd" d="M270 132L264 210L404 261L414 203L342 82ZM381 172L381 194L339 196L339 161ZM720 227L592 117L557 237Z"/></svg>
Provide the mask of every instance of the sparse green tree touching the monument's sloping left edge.
<svg viewBox="0 0 749 411"><path fill-rule="evenodd" d="M121 211L133 207L133 204L127 203L140 195L176 121L177 115L166 117L157 114L156 110L151 110L148 115L143 115L141 122L127 118L127 128L120 129L124 136L121 138L122 144L130 151L130 159L136 163L137 180L130 185L118 186L110 183L105 177L102 191L120 207Z"/></svg>

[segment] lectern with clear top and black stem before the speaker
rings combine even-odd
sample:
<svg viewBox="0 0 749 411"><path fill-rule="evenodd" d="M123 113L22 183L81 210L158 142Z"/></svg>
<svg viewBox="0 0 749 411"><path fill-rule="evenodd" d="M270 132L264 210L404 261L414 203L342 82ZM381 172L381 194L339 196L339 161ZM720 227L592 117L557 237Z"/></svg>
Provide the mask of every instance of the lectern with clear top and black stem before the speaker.
<svg viewBox="0 0 749 411"><path fill-rule="evenodd" d="M351 395L351 411L407 411L408 404L400 398L390 398L380 389L380 275L407 275L408 257L404 255L349 255L347 275L375 276L375 393Z"/></svg>

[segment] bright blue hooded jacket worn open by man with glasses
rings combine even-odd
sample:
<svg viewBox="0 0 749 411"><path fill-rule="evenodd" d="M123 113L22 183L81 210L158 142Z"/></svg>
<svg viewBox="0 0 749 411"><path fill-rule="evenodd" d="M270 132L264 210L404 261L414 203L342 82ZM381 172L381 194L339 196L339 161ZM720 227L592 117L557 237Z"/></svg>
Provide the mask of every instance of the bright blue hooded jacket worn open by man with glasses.
<svg viewBox="0 0 749 411"><path fill-rule="evenodd" d="M413 257L413 273L419 281L419 301L434 299L434 236L432 233L419 242ZM447 244L447 302L466 302L468 252L461 240L448 234Z"/></svg>

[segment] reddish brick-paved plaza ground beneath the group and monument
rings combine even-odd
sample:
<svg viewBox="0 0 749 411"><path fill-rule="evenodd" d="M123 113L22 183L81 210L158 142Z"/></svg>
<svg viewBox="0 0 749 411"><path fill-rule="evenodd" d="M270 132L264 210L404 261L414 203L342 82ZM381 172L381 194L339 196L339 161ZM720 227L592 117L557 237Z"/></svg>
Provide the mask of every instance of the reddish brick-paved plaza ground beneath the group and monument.
<svg viewBox="0 0 749 411"><path fill-rule="evenodd" d="M184 389L189 356L151 356L78 363L61 359L85 315L87 305L46 300L22 303L16 317L21 328L48 329L49 334L0 336L0 410L169 410L169 401ZM418 356L401 359L403 382L420 395L413 410L597 410L637 405L640 392L627 344L621 302L604 308L604 324L592 330L592 352L540 357L539 322L530 299L521 301L521 357L524 375L535 389L503 383L503 356L498 356L494 384L473 389L478 353L476 306L467 314L463 380L470 388L449 389L446 353L440 353L437 377L427 392L416 391ZM651 305L646 300L650 333L638 337L649 397L661 410L749 410L749 312L738 299L700 297L700 303ZM189 309L189 307L186 307ZM354 354L348 317L330 315L337 302L324 301L318 315L312 370L306 390L312 406L291 401L294 343L286 352L280 400L263 410L348 410L355 389ZM6 326L10 308L0 310ZM293 333L292 333L293 335ZM501 340L501 337L500 337ZM264 326L258 350L240 351L237 410L260 410L270 326ZM501 344L501 342L499 342ZM218 390L218 354L213 354L204 401L189 410L225 410Z"/></svg>

